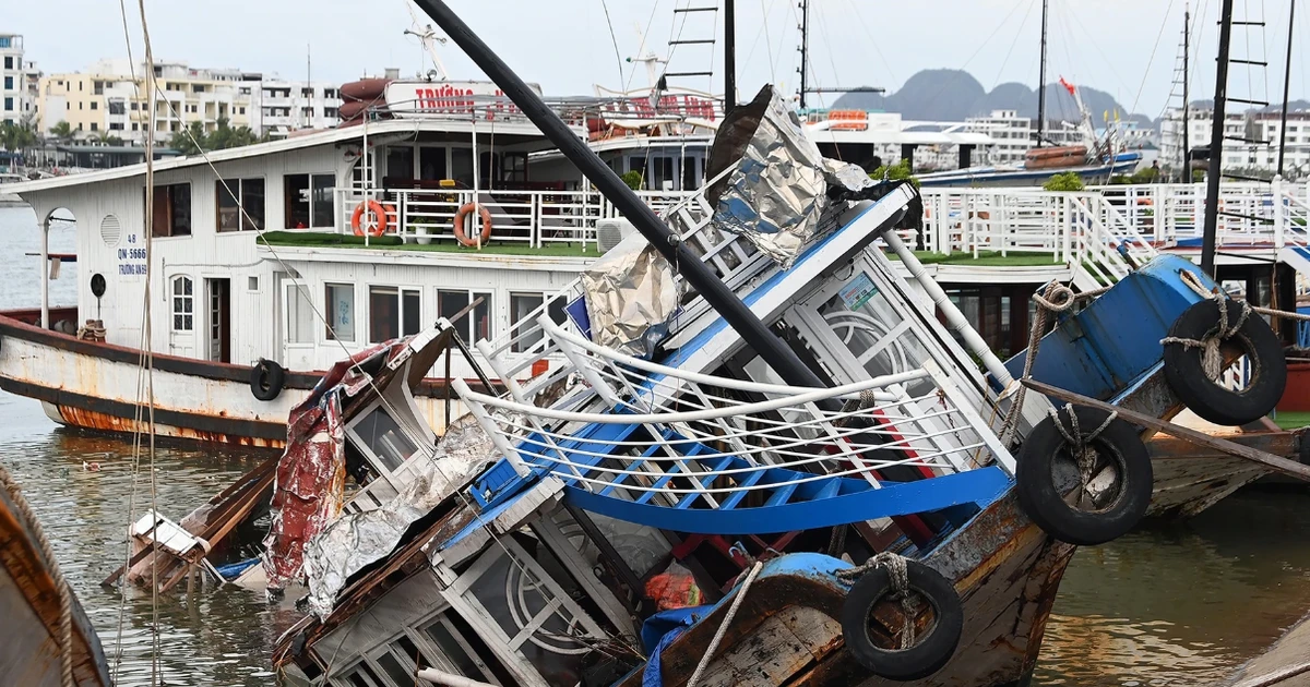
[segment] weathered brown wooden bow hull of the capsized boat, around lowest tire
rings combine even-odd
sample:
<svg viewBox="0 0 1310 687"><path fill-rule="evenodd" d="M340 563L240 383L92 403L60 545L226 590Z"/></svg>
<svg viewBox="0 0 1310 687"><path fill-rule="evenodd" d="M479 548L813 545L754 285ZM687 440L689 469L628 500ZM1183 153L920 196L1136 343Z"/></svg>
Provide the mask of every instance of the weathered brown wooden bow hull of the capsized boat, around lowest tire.
<svg viewBox="0 0 1310 687"><path fill-rule="evenodd" d="M782 597L747 597L701 684L1023 684L1036 666L1047 619L1074 550L1032 525L1011 491L925 560L952 580L964 603L959 649L935 675L909 683L870 677L846 652L841 639L837 618L844 594L831 586L800 584L803 590ZM749 603L751 598L756 598L757 605ZM791 603L778 605L779 599L791 599ZM715 615L723 610L718 608L664 650L664 684L681 684L696 670L719 627ZM779 636L794 640L787 644L779 641ZM768 649L768 657L761 654L762 649ZM639 686L641 671L621 684Z"/></svg>

